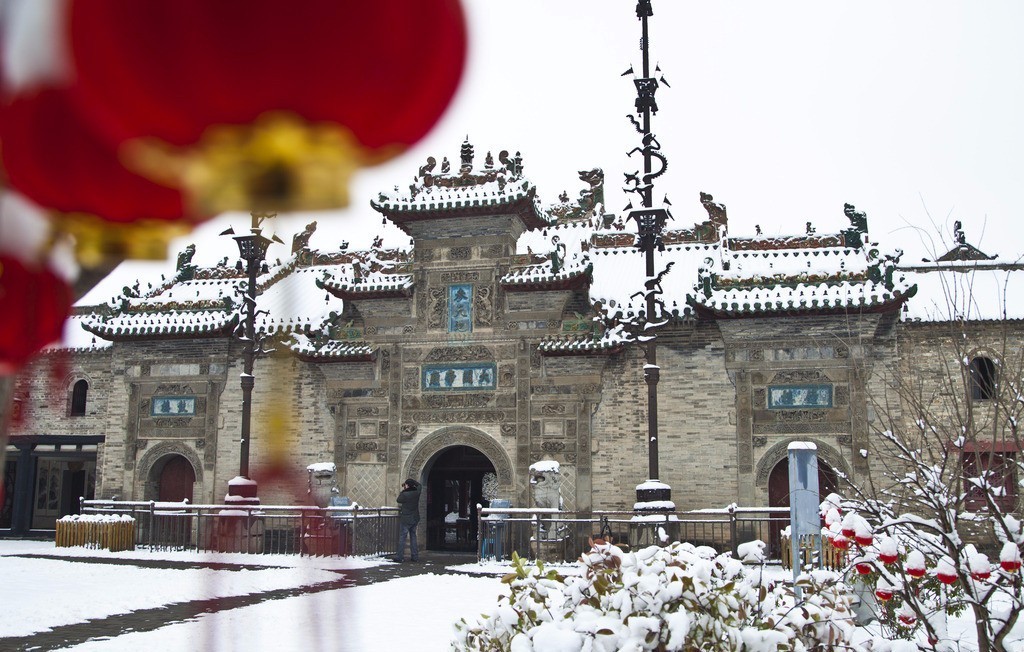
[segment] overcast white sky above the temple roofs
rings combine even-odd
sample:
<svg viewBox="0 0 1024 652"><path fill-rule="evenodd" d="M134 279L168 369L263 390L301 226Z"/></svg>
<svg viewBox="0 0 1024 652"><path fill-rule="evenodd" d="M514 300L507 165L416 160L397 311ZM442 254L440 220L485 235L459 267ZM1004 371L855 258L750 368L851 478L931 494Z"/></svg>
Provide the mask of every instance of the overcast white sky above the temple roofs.
<svg viewBox="0 0 1024 652"><path fill-rule="evenodd" d="M601 167L608 209L626 205L623 172L641 167L625 155L637 144L626 120L635 91L620 77L631 63L640 70L635 2L464 4L469 63L449 113L406 156L362 173L348 210L315 215L314 246L369 246L383 228L370 199L408 185L427 156L457 159L467 134L477 157L520 150L546 203L563 189L575 197L577 171ZM948 235L959 219L970 242L1016 257L1022 26L1019 0L654 0L653 59L672 85L657 91L653 131L670 168L655 197L668 193L686 226L705 219L698 192L711 192L734 235L755 224L799 233L807 221L836 231L849 202L867 212L876 238L894 243L895 232L908 259L925 253L920 237L897 229L934 233L931 219ZM385 246L408 244L394 227L383 232Z"/></svg>

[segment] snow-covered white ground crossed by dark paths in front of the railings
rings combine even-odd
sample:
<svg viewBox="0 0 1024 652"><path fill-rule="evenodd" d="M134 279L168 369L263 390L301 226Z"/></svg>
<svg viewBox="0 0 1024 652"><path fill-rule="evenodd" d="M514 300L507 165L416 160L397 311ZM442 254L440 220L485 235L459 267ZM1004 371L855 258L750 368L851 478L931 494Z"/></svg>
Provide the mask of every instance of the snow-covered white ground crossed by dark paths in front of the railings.
<svg viewBox="0 0 1024 652"><path fill-rule="evenodd" d="M59 559L15 557L47 555ZM143 568L131 564L86 564L76 557L222 562L247 570ZM348 569L390 562L376 559L299 558L279 555L228 555L135 551L110 553L54 548L52 542L0 539L0 649L4 638L44 633L60 625L128 614L174 603L314 588L338 580ZM256 568L258 567L258 568ZM379 583L310 591L295 597L204 613L147 632L91 640L71 650L447 650L453 624L492 611L507 595L499 577L507 564L453 566L445 574L427 573ZM572 566L559 568L564 574ZM456 574L451 574L455 572ZM781 579L788 573L768 570ZM950 621L950 638L970 650L967 614ZM866 632L864 632L866 635ZM1016 633L1015 633L1016 634ZM1008 649L1024 650L1015 642ZM545 651L550 652L550 651Z"/></svg>

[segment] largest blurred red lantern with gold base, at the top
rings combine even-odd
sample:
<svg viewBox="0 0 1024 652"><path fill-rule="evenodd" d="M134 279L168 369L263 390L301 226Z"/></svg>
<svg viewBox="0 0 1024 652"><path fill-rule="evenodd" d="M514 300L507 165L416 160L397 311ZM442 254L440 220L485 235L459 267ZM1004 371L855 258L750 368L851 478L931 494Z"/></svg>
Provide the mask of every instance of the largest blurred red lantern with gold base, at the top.
<svg viewBox="0 0 1024 652"><path fill-rule="evenodd" d="M346 205L438 120L466 50L458 0L90 0L70 31L90 121L200 213Z"/></svg>

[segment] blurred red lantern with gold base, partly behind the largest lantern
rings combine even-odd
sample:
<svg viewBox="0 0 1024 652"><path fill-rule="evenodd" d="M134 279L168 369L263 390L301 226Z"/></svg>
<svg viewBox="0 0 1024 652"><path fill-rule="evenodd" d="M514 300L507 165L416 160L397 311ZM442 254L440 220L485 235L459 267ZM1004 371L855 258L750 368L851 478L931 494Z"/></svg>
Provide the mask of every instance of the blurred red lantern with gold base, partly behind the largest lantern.
<svg viewBox="0 0 1024 652"><path fill-rule="evenodd" d="M170 238L198 221L183 219L178 190L128 171L74 110L67 90L9 98L0 107L0 140L10 185L76 236L86 265L106 256L165 258Z"/></svg>

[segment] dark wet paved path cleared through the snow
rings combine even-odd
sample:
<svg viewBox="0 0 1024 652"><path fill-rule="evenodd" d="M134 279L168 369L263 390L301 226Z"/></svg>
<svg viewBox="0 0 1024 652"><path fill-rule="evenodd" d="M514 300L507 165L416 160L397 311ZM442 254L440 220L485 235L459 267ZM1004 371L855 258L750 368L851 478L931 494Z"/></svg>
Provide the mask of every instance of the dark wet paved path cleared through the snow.
<svg viewBox="0 0 1024 652"><path fill-rule="evenodd" d="M58 559L60 561L83 564L116 564L123 566L138 566L140 568L214 568L217 570L265 569L272 566L256 566L252 564L225 564L206 562L184 562L146 559L116 559L105 557L60 557L56 555L8 555L36 559ZM338 579L319 582L294 589L276 589L247 596L216 598L211 600L193 600L177 602L153 609L139 609L131 613L122 613L104 618L94 618L85 622L59 625L49 632L42 632L25 637L9 637L0 639L0 650L32 650L43 652L58 650L85 643L91 639L115 638L131 632L150 632L174 622L196 618L204 613L216 613L239 609L251 605L283 600L297 596L307 596L325 591L336 591L349 586L373 584L398 577L411 577L424 573L456 574L446 569L456 564L468 564L476 561L475 555L455 555L447 553L421 553L420 561L404 564L386 564L374 568L358 568L338 570Z"/></svg>

